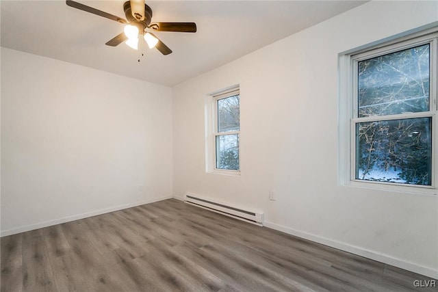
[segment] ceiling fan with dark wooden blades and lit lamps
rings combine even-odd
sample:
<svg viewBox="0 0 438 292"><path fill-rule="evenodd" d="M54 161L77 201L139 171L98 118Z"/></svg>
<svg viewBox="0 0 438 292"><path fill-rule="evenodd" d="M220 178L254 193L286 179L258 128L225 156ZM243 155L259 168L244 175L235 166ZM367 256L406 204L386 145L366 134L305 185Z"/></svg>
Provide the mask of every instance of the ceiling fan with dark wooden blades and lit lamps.
<svg viewBox="0 0 438 292"><path fill-rule="evenodd" d="M66 4L70 7L125 24L123 33L118 34L105 43L111 47L116 47L118 44L125 42L129 47L140 49L141 51L143 40L145 40L150 49L155 47L163 55L168 55L172 53L172 50L151 31L196 32L196 23L151 23L152 10L144 3L144 0L130 0L123 4L127 21L73 0L66 0ZM140 59L138 61L140 62Z"/></svg>

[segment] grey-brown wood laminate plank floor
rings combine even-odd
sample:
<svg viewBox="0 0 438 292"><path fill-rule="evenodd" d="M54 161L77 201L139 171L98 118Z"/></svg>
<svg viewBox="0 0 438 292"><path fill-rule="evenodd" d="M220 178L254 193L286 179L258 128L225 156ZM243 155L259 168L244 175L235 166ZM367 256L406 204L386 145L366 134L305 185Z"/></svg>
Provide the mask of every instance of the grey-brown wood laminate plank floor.
<svg viewBox="0 0 438 292"><path fill-rule="evenodd" d="M1 238L2 292L438 289L414 280L431 279L175 199Z"/></svg>

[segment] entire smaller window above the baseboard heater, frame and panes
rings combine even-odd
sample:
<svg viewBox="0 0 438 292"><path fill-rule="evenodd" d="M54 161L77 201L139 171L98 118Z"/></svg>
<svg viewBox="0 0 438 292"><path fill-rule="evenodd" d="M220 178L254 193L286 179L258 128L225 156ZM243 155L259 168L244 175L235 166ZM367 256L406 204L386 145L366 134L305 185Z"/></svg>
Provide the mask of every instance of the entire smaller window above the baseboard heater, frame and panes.
<svg viewBox="0 0 438 292"><path fill-rule="evenodd" d="M236 88L209 96L211 113L207 152L209 172L240 172L240 91ZM208 147L209 146L209 147ZM208 149L209 148L209 149Z"/></svg>

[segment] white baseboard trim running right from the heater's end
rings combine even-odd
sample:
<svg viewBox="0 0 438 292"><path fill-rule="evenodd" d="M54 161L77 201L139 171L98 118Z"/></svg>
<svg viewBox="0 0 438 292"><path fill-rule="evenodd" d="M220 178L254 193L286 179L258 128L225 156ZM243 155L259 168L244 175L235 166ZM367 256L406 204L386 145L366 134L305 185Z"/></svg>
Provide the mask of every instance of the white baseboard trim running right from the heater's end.
<svg viewBox="0 0 438 292"><path fill-rule="evenodd" d="M345 252L357 254L358 256L364 256L365 258L371 258L374 261L386 263L388 265L393 265L395 267L400 267L400 269L407 269L408 271L413 271L414 273L417 273L417 274L422 274L422 275L428 276L430 278L438 279L438 269L433 269L431 267L424 267L422 265L403 261L400 258L394 258L392 256L388 256L386 254L375 252L373 250L366 250L366 249L361 248L359 246L350 245L348 243L343 243L340 241L335 241L333 239L327 239L325 237L320 237L318 235L313 235L310 233L305 233L305 232L302 232L300 230L295 230L295 229L289 228L287 226L282 226L282 225L275 224L272 222L265 221L263 223L263 226L266 226L268 228L272 228L275 230L279 230L279 231L281 231L283 233L287 233L289 235L295 235L297 237L309 239L310 241L315 241L317 243L328 245L331 248L337 248L338 250L344 250Z"/></svg>

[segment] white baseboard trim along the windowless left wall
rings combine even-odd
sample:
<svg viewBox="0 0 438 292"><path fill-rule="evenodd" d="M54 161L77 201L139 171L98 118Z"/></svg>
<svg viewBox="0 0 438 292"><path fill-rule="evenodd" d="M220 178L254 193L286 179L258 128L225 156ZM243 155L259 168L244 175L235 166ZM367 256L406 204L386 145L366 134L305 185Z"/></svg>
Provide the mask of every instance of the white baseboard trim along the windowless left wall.
<svg viewBox="0 0 438 292"><path fill-rule="evenodd" d="M111 212L114 212L114 211L128 209L128 208L131 208L131 207L137 207L137 206L140 206L142 204L150 204L150 203L153 203L153 202L167 200L167 199L170 199L170 198L172 198L172 196L164 196L164 197L159 197L159 198L153 198L151 200L144 200L142 202L123 204L123 205L114 206L114 207L110 207L110 208L106 208L106 209L101 209L101 210L81 213L81 214L77 214L77 215L67 216L67 217L63 217L63 218L59 218L59 219L55 219L55 220L49 220L49 221L45 221L45 222L38 222L36 224L20 226L20 227L8 229L8 230L1 230L0 237L5 237L5 236L8 236L8 235L14 235L14 234L17 234L17 233L24 233L24 232L30 231L30 230L44 228L44 227L52 226L52 225L56 225L56 224L62 224L62 223L66 223L66 222L70 222L70 221L75 221L75 220L79 220L79 219L83 219L83 218L87 218L87 217L92 217L92 216L96 216L96 215L102 215L102 214L105 214L105 213L111 213Z"/></svg>

